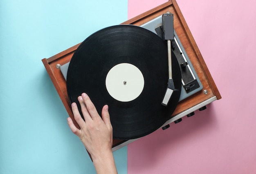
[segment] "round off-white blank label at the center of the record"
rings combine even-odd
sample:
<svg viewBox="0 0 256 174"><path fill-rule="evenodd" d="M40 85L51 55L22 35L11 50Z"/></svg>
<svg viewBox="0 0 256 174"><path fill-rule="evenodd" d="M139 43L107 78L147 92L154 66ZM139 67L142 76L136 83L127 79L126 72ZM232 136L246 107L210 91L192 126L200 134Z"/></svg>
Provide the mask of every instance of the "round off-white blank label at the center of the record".
<svg viewBox="0 0 256 174"><path fill-rule="evenodd" d="M110 69L106 77L110 96L121 102L136 99L144 88L141 71L130 63L120 63Z"/></svg>

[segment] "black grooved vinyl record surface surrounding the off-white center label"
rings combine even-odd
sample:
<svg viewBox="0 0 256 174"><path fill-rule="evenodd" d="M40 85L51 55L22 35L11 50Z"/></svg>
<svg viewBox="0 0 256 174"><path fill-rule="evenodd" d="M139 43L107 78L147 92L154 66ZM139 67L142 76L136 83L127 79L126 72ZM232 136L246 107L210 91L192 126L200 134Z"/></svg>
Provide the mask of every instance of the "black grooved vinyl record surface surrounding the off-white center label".
<svg viewBox="0 0 256 174"><path fill-rule="evenodd" d="M93 33L75 51L67 71L67 93L71 103L78 105L77 97L87 93L99 115L107 104L113 138L139 138L161 127L177 106L181 74L174 54L172 62L173 81L178 91L173 92L168 106L163 106L161 102L168 83L166 42L142 27L107 27ZM108 72L121 63L134 65L144 77L141 94L126 102L113 98L106 88Z"/></svg>

